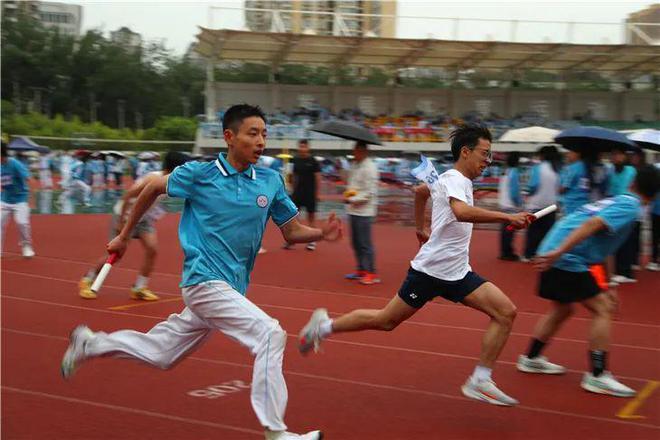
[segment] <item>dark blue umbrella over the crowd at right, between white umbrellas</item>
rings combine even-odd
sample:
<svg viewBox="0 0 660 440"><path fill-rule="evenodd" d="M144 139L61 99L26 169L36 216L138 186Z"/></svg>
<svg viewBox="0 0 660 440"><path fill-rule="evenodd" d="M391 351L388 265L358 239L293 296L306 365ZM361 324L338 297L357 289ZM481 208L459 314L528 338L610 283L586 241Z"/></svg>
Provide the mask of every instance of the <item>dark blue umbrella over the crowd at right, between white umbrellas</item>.
<svg viewBox="0 0 660 440"><path fill-rule="evenodd" d="M555 142L568 150L638 150L624 134L603 127L573 127L562 131Z"/></svg>

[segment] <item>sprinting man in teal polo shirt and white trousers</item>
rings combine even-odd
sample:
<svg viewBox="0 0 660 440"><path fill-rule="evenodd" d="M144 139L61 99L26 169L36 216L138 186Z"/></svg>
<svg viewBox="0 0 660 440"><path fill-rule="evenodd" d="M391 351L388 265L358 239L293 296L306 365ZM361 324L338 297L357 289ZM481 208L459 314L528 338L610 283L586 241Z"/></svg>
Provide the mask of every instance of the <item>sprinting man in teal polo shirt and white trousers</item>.
<svg viewBox="0 0 660 440"><path fill-rule="evenodd" d="M287 389L282 375L286 332L245 293L269 218L289 243L337 240L341 223L331 214L321 229L302 225L280 175L254 167L266 146L266 121L258 107L233 106L222 124L227 155L219 155L215 162L188 162L169 176L154 179L140 194L121 233L108 244L108 252L122 256L133 227L158 195L185 199L179 240L186 308L148 333L105 334L76 327L62 360L62 374L68 378L82 361L107 355L166 369L190 354L212 330L220 330L255 356L251 400L266 439L317 440L320 431L286 432Z"/></svg>

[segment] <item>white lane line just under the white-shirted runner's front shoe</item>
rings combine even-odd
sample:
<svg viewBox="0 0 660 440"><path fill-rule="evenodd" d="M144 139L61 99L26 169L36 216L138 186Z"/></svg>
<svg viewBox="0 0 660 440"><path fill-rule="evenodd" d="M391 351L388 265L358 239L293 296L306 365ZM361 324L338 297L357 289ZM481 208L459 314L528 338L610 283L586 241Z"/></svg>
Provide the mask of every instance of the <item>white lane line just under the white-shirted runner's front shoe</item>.
<svg viewBox="0 0 660 440"><path fill-rule="evenodd" d="M8 328L3 328L2 330L7 331L7 332L11 332L11 333L18 333L18 334L24 334L24 335L29 335L29 336L51 338L51 339L58 339L58 340L62 340L62 339L68 340L68 338L63 338L61 336L52 336L52 335L45 335L45 334L32 333L32 332L24 332L24 331L13 330L13 329L8 329ZM201 357L197 357L197 356L189 356L188 359L195 360L195 361L198 361L198 362L211 363L211 364L241 367L241 368L246 368L246 369L250 369L250 370L253 368L253 365L251 365L251 364L242 364L242 363L238 363L238 362L220 361L220 360L215 360L215 359L201 358ZM397 387L397 386L392 386L392 385L383 385L383 384L376 384L376 383L364 382L364 381L358 381L358 380L341 379L341 378L338 378L338 377L322 376L322 375L309 374L309 373L300 373L300 372L289 371L289 370L284 371L284 373L287 374L287 375L291 375L291 376L304 377L304 378L307 378L307 379L324 380L324 381L330 381L330 382L341 383L341 384L346 384L346 385L357 385L357 386L368 387L368 388L376 388L376 389L381 389L381 390L398 391L398 392L411 393L411 394L417 394L417 395L423 395L423 396L429 396L429 397L446 398L446 399L452 399L452 400L461 400L461 401L465 401L465 402L473 402L471 399L468 399L466 397L462 397L462 396L459 396L459 395L445 394L445 393L439 393L439 392L434 392L434 391L425 391L425 390L419 390L419 389L402 388L402 387ZM623 376L619 376L619 377L623 377ZM5 388L5 387L3 386L3 388ZM478 403L479 405L483 405L482 402L473 402L473 403ZM599 416L590 416L590 415L586 415L586 414L575 414L575 413L570 413L570 412L565 412L565 411L557 411L557 410L551 410L551 409L546 409L546 408L537 408L537 407L527 406L527 405L518 405L518 406L516 406L516 408L526 410L526 411L538 412L538 413L542 413L542 414L553 414L553 415L560 415L560 416L566 416L566 417L574 417L574 418L580 418L580 419L595 420L595 421L599 421L599 422L617 423L617 424L623 424L623 425L632 425L632 426L639 426L639 427L643 427L643 428L660 430L660 426L652 425L652 424L648 424L648 423L630 422L630 421L626 421L626 420L620 420L620 419L615 419L615 418L607 418L607 417L599 417Z"/></svg>

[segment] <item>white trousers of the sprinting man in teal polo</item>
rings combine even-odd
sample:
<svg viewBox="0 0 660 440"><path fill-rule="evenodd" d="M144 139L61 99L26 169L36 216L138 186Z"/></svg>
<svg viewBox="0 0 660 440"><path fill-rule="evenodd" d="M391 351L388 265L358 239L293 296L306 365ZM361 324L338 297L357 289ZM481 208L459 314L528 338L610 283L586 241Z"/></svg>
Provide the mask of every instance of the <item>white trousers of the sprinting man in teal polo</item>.
<svg viewBox="0 0 660 440"><path fill-rule="evenodd" d="M185 287L182 293L186 308L181 313L147 333L98 332L85 346L85 354L138 359L167 369L193 352L212 330L220 330L255 356L251 400L259 422L273 431L286 430L288 392L282 374L286 332L279 322L224 281Z"/></svg>

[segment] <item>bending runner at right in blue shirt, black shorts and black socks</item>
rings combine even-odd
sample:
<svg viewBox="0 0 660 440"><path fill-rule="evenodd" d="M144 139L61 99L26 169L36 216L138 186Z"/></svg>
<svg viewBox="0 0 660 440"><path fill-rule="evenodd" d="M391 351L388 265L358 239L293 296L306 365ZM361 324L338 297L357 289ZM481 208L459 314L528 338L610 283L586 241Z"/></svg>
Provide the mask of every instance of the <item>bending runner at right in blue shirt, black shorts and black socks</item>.
<svg viewBox="0 0 660 440"><path fill-rule="evenodd" d="M593 316L589 333L591 371L581 386L587 391L631 397L635 391L620 383L607 369L612 315L618 303L609 289L604 263L626 239L639 217L642 204L653 200L660 186L660 173L652 166L639 169L630 192L582 205L555 223L539 247L536 267L541 270L539 296L552 301L552 309L534 329L526 355L517 367L526 373L562 374L541 352L582 304Z"/></svg>

